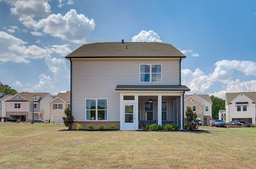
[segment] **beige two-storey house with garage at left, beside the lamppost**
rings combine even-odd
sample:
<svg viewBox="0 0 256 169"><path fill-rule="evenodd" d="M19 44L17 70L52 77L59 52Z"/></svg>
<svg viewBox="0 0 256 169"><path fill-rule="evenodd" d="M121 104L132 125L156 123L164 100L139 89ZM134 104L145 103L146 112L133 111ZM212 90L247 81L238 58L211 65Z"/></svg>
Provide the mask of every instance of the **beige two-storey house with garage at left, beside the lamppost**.
<svg viewBox="0 0 256 169"><path fill-rule="evenodd" d="M20 92L6 100L6 117L31 121L33 119L50 119L50 93Z"/></svg>

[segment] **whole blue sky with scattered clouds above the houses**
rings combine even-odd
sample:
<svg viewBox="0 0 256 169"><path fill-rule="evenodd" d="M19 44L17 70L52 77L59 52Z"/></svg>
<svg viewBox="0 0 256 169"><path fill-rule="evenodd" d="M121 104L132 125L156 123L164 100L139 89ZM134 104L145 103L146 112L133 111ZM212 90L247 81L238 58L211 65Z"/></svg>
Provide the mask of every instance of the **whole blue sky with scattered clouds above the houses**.
<svg viewBox="0 0 256 169"><path fill-rule="evenodd" d="M184 52L192 92L256 91L256 1L2 0L0 33L0 81L18 91L68 90L68 52L121 39Z"/></svg>

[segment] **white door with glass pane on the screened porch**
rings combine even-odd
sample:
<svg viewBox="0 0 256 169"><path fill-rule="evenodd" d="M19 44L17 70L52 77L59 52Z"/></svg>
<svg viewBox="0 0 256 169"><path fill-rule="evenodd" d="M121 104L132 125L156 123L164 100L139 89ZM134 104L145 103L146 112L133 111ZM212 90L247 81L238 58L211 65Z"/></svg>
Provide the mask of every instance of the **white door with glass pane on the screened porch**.
<svg viewBox="0 0 256 169"><path fill-rule="evenodd" d="M136 130L135 126L135 104L123 104L123 130Z"/></svg>

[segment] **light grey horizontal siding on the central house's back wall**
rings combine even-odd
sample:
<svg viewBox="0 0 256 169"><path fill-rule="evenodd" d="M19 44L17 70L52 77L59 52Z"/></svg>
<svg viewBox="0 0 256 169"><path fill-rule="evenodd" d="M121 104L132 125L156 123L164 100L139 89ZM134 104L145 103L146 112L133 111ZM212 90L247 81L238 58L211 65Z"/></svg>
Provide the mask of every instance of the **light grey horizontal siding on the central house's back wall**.
<svg viewBox="0 0 256 169"><path fill-rule="evenodd" d="M140 64L162 64L162 82L140 82ZM117 84L179 84L179 60L72 60L72 113L85 121L85 99L108 99L108 120L120 121Z"/></svg>

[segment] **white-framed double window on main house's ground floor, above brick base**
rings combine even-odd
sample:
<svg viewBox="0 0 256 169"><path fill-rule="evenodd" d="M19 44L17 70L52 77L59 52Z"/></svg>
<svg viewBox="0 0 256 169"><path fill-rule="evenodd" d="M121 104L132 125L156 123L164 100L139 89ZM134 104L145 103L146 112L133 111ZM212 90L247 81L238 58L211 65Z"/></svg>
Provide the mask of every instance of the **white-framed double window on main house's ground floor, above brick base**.
<svg viewBox="0 0 256 169"><path fill-rule="evenodd" d="M107 99L86 99L86 120L107 120Z"/></svg>

